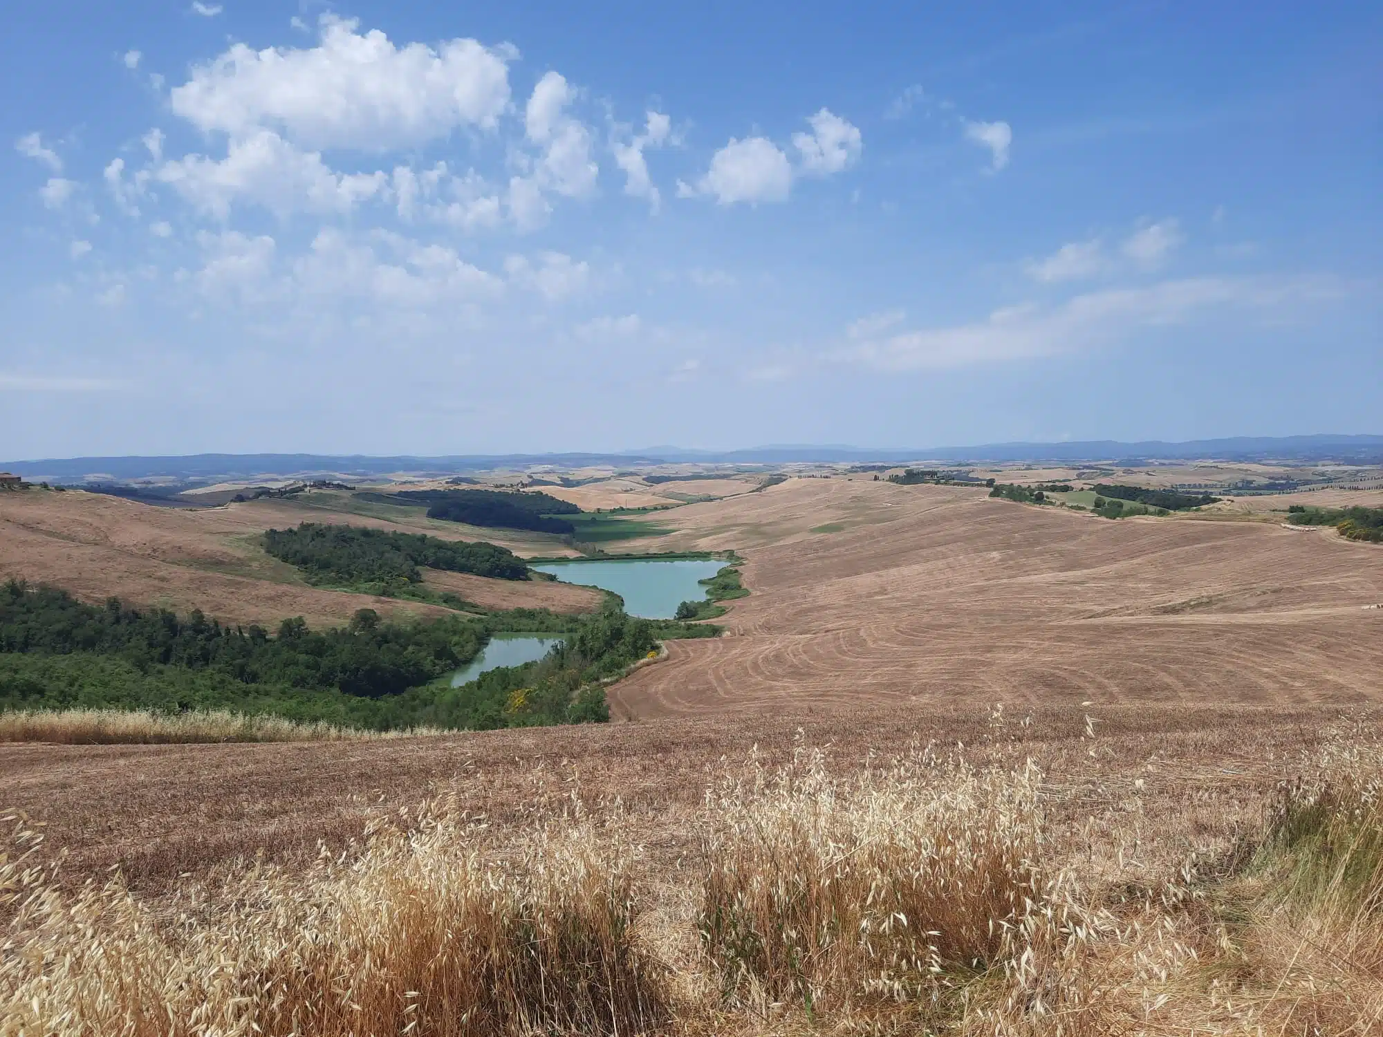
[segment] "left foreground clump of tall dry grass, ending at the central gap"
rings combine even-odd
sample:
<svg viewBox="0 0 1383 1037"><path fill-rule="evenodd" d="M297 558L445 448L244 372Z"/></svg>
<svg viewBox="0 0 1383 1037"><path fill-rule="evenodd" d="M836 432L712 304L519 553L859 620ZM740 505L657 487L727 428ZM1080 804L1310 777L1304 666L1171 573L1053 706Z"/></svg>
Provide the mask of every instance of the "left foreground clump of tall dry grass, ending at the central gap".
<svg viewBox="0 0 1383 1037"><path fill-rule="evenodd" d="M17 819L8 819L11 821ZM18 841L28 831L21 830ZM639 1033L662 969L632 940L626 863L574 821L487 854L431 807L306 875L250 868L162 917L120 881L75 895L19 856L0 1034Z"/></svg>

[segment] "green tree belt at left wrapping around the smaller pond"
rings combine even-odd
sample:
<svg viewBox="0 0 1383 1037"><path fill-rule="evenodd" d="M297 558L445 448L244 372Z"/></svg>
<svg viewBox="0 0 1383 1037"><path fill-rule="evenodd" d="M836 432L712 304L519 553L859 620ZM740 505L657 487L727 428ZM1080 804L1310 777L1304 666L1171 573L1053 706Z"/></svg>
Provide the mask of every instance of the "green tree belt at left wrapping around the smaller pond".
<svg viewBox="0 0 1383 1037"><path fill-rule="evenodd" d="M449 675L498 630L560 633L563 647L451 687ZM343 628L313 630L296 617L271 633L10 581L0 586L0 709L231 709L375 730L595 722L609 715L600 682L657 639L718 633L617 606L577 618L510 610L407 624L361 608Z"/></svg>

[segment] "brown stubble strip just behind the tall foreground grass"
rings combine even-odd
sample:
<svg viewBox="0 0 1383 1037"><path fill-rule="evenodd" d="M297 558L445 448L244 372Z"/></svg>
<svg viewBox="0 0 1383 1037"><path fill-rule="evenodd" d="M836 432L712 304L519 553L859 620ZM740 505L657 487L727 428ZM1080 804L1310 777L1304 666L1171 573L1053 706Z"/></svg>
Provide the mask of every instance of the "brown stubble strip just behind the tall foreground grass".
<svg viewBox="0 0 1383 1037"><path fill-rule="evenodd" d="M1134 817L1141 854L1223 846L1256 798L1296 773L1340 711L1324 708L1117 705L1010 709L898 702L812 716L662 719L365 742L223 745L0 745L7 810L46 825L46 856L66 854L71 881L119 864L158 893L263 850L304 863L339 850L368 819L455 791L459 806L502 834L575 798L611 810L646 846L657 881L696 859L694 814L705 790L751 752L786 760L826 747L841 772L909 742L965 747L974 763L1036 760L1047 773L1054 830L1087 816ZM1369 723L1376 731L1377 716ZM875 759L878 758L875 756ZM1138 783L1137 791L1134 783ZM1130 805L1133 803L1133 805ZM1152 830L1177 832L1166 845ZM1145 856L1145 860L1151 860Z"/></svg>

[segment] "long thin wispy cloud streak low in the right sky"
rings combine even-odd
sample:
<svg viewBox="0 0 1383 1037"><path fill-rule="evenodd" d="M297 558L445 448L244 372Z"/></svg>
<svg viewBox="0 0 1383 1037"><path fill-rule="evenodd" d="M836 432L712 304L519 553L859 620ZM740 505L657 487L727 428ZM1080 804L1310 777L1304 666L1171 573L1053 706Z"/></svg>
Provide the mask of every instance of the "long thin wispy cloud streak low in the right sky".
<svg viewBox="0 0 1383 1037"><path fill-rule="evenodd" d="M1225 310L1271 311L1339 299L1332 278L1189 278L1108 289L1052 307L996 310L986 319L856 342L837 354L885 371L961 368L1117 344L1149 328Z"/></svg>

